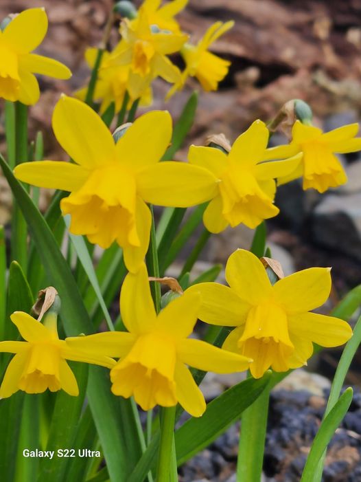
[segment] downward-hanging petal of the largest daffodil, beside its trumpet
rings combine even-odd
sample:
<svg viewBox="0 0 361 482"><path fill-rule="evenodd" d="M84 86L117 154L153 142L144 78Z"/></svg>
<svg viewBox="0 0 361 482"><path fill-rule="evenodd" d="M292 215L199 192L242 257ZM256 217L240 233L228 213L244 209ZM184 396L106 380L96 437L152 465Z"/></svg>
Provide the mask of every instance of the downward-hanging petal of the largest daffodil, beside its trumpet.
<svg viewBox="0 0 361 482"><path fill-rule="evenodd" d="M138 196L135 212L135 223L139 238L139 246L124 245L123 255L126 268L136 273L144 261L146 252L148 251L150 240L150 227L152 226L152 214L145 202Z"/></svg>

